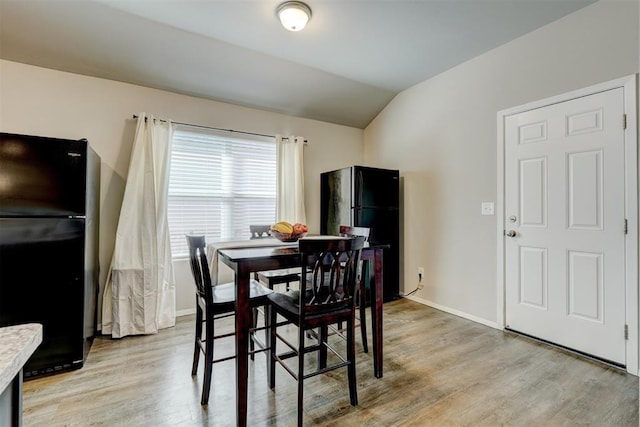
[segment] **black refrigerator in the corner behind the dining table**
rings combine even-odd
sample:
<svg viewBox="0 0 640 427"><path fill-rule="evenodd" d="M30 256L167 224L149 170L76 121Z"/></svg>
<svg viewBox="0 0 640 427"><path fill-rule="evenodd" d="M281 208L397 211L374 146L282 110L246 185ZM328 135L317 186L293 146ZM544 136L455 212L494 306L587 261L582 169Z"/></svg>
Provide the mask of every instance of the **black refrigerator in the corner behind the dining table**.
<svg viewBox="0 0 640 427"><path fill-rule="evenodd" d="M320 232L339 234L341 225L369 227L372 244L384 251L384 301L400 292L400 172L351 166L320 175Z"/></svg>

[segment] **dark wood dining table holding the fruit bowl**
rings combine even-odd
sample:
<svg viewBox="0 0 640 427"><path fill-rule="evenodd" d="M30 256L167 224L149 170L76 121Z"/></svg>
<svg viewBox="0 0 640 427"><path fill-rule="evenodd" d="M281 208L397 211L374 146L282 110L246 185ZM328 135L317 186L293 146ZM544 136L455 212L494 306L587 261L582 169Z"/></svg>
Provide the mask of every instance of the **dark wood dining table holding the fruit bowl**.
<svg viewBox="0 0 640 427"><path fill-rule="evenodd" d="M382 258L385 246L370 246L362 251L370 262L373 366L376 378L382 378ZM255 271L300 267L298 246L221 248L219 260L235 273L236 284L236 424L247 425L247 379L249 367L249 283ZM373 268L371 268L373 267Z"/></svg>

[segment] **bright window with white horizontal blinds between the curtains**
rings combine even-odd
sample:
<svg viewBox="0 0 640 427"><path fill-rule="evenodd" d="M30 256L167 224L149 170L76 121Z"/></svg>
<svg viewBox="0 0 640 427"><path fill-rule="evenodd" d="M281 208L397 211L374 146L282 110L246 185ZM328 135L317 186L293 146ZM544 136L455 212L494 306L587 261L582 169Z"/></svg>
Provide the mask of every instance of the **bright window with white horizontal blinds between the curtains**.
<svg viewBox="0 0 640 427"><path fill-rule="evenodd" d="M186 234L204 234L207 241L246 239L249 224L273 224L275 216L274 138L176 128L168 198L174 257L188 255Z"/></svg>

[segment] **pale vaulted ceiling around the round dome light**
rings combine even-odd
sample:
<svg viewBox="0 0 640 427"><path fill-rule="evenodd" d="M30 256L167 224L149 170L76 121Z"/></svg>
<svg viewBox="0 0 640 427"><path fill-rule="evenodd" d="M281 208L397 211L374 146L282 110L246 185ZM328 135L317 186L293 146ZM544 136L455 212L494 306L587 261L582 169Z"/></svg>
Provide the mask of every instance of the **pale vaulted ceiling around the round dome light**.
<svg viewBox="0 0 640 427"><path fill-rule="evenodd" d="M596 0L0 0L0 58L364 128L399 92Z"/></svg>

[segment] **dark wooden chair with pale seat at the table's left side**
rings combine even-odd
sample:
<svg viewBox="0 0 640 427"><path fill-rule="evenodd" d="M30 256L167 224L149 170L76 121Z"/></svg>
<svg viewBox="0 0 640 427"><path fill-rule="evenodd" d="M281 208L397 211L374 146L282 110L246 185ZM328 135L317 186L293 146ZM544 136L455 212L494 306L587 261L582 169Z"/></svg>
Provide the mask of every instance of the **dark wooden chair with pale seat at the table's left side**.
<svg viewBox="0 0 640 427"><path fill-rule="evenodd" d="M215 322L230 317L235 314L235 283L224 283L213 286L211 274L209 273L209 263L206 255L206 244L204 236L186 236L189 246L189 262L191 272L196 284L196 334L193 350L193 366L191 375L195 376L198 371L200 353L204 354L204 381L202 383L202 398L200 403L207 405L209 402L209 391L211 389L211 379L213 364L235 358L235 353L231 356L214 358L214 341L219 338L231 337L235 335L235 330L228 333L216 335ZM269 304L268 295L273 293L270 289L262 286L255 280L251 280L249 288L249 304L252 309ZM252 314L252 316L254 316ZM265 322L266 323L266 322ZM250 331L250 353L253 355L258 351L267 351L268 339L264 342L256 337L258 330L266 328L255 328L255 321L252 319L254 328ZM259 349L255 349L255 344Z"/></svg>

